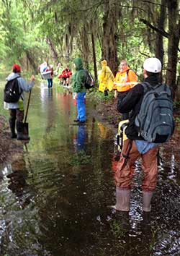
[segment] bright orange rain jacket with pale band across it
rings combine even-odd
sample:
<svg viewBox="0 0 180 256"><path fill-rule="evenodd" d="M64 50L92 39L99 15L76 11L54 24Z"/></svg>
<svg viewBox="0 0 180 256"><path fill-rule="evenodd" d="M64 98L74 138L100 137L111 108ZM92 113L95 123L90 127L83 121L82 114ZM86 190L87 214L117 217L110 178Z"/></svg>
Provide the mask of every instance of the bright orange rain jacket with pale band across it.
<svg viewBox="0 0 180 256"><path fill-rule="evenodd" d="M127 67L122 72L117 72L116 77L114 79L114 90L118 92L126 92L130 90L132 87L137 85L137 76L135 72L133 72L130 67Z"/></svg>

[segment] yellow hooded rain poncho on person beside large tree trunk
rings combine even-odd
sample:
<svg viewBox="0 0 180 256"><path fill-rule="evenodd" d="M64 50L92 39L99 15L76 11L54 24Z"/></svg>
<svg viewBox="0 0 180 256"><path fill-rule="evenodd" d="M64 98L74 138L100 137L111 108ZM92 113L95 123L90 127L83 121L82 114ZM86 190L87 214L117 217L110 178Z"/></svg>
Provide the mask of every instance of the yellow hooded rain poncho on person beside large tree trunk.
<svg viewBox="0 0 180 256"><path fill-rule="evenodd" d="M113 89L114 86L114 75L111 69L107 66L107 61L102 61L102 70L99 74L99 90L104 93L104 90Z"/></svg>

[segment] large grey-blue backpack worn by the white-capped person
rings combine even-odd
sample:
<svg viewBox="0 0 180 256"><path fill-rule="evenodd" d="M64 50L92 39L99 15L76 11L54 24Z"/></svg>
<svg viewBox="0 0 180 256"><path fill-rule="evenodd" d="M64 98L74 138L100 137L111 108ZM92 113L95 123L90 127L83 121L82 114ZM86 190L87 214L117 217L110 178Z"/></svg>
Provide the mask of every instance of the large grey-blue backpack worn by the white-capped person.
<svg viewBox="0 0 180 256"><path fill-rule="evenodd" d="M143 101L135 118L135 126L139 135L148 142L166 142L174 132L171 89L161 83L155 87L148 82L142 85Z"/></svg>

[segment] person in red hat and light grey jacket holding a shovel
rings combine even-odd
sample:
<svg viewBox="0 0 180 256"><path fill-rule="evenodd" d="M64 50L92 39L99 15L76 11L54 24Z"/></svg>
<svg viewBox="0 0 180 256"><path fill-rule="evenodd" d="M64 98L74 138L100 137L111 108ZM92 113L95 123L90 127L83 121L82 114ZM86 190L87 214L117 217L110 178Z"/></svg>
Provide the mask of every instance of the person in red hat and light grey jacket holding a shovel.
<svg viewBox="0 0 180 256"><path fill-rule="evenodd" d="M17 140L30 140L28 135L24 135L24 92L30 92L32 86L35 84L35 76L32 75L30 77L30 83L27 84L26 80L20 76L21 67L18 64L14 64L12 66L12 73L6 77L6 81L11 81L17 79L17 83L19 85L20 97L19 101L9 103L9 126L12 132L12 139L17 138ZM17 134L15 132L15 124L17 119Z"/></svg>

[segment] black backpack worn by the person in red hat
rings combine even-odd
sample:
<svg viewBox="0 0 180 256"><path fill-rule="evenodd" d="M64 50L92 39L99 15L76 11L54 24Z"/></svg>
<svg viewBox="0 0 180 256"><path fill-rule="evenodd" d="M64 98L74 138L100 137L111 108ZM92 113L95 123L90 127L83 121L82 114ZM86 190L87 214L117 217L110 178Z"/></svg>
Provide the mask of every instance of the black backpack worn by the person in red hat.
<svg viewBox="0 0 180 256"><path fill-rule="evenodd" d="M19 88L18 77L6 82L4 88L4 101L6 103L16 103L19 101L22 90Z"/></svg>

